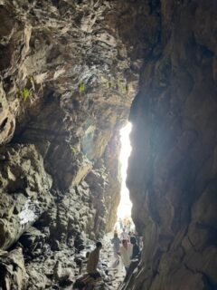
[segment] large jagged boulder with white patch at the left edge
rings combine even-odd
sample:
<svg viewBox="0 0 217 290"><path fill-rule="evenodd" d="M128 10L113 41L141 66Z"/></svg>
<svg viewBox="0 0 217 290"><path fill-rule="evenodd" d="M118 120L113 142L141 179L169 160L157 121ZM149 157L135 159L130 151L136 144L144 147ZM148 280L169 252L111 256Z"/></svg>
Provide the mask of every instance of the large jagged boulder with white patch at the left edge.
<svg viewBox="0 0 217 290"><path fill-rule="evenodd" d="M33 145L0 148L0 247L10 247L52 200L52 179Z"/></svg>

